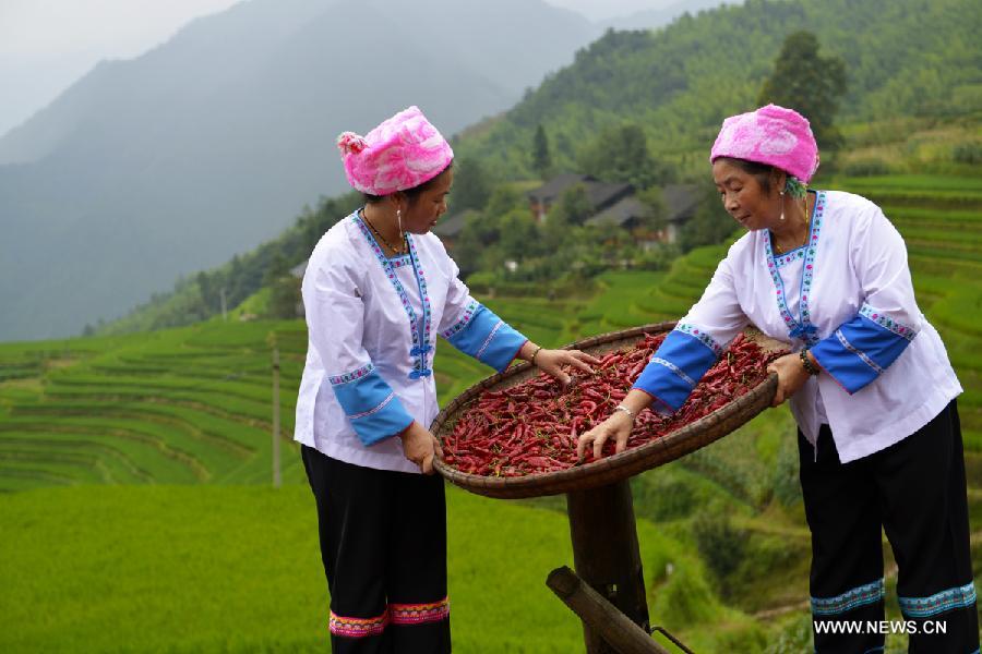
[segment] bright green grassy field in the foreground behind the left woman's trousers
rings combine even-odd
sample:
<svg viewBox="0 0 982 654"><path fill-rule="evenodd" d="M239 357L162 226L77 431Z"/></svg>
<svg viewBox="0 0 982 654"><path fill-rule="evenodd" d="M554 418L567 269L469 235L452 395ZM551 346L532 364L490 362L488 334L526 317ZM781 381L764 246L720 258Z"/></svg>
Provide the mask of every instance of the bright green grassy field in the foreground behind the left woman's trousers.
<svg viewBox="0 0 982 654"><path fill-rule="evenodd" d="M565 519L448 493L455 650L580 646L575 616L544 585L572 565ZM315 513L302 485L44 488L0 502L0 651L323 652L327 596ZM652 616L714 651L723 609L702 565L638 524ZM489 537L494 534L494 537ZM671 564L673 572L666 576ZM731 638L731 637L728 637Z"/></svg>

